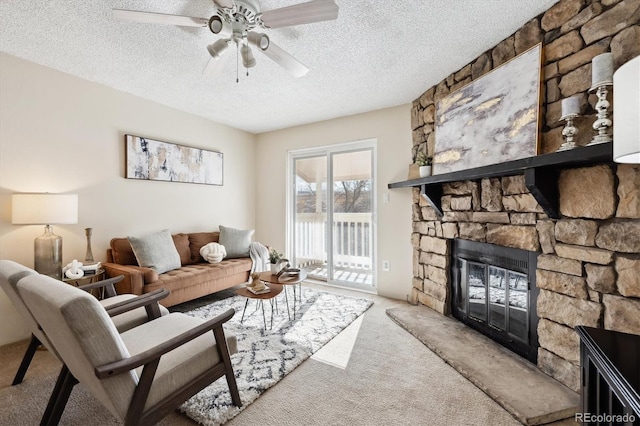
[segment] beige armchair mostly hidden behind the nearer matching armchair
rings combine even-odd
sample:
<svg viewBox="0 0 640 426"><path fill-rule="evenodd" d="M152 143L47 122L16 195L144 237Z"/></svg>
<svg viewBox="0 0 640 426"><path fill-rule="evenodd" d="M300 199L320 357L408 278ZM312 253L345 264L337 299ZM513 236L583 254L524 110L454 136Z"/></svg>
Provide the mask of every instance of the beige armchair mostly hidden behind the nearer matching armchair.
<svg viewBox="0 0 640 426"><path fill-rule="evenodd" d="M50 344L47 336L44 334L37 321L29 312L29 309L25 306L22 298L17 290L17 283L20 279L26 276L38 275L33 269L20 265L19 263L11 260L0 260L0 287L11 300L13 306L18 310L27 326L31 331L31 341L24 354L18 372L13 379L12 385L22 383L29 365L33 359L33 356L38 349L38 346L43 344L51 353L58 356L55 348ZM102 289L105 299L100 303L108 310L109 315L114 316L114 324L118 331L124 332L132 329L140 324L143 324L150 319L157 318L162 315L167 315L169 311L164 307L153 303L166 297L169 293L166 291L158 291L155 293L148 293L144 296L135 296L132 294L116 295L113 285L120 281L122 277L114 277L107 280L99 281L79 288L91 291L93 289ZM58 356L58 358L60 358Z"/></svg>

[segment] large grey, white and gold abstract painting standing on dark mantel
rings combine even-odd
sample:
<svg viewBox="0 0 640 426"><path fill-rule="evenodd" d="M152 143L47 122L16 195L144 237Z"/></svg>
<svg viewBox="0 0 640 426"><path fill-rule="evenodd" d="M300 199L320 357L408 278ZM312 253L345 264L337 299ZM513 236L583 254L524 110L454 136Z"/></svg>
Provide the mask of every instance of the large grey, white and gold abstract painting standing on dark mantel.
<svg viewBox="0 0 640 426"><path fill-rule="evenodd" d="M535 156L541 81L538 44L440 100L433 174Z"/></svg>

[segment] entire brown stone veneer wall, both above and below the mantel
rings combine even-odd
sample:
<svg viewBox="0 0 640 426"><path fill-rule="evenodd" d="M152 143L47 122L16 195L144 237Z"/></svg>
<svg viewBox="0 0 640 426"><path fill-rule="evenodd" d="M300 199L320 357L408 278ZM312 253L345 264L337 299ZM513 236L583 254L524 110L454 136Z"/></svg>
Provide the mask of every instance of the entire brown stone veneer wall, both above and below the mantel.
<svg viewBox="0 0 640 426"><path fill-rule="evenodd" d="M561 0L413 103L413 150L433 154L436 103L494 67L543 42L541 153L562 143L563 98L579 94L580 145L593 131L591 59L611 51L615 68L640 54L640 0ZM579 149L579 148L577 148ZM537 286L539 368L579 389L577 325L640 334L640 166L596 165L559 176L561 219L549 219L523 176L443 186L444 217L414 188L413 302L449 313L453 238L540 252Z"/></svg>

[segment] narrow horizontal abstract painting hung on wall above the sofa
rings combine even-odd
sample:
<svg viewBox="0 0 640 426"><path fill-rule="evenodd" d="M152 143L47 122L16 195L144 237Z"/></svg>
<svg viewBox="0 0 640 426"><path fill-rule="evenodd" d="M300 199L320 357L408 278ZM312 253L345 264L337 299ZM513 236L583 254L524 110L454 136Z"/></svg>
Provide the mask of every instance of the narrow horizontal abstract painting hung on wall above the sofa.
<svg viewBox="0 0 640 426"><path fill-rule="evenodd" d="M221 152L125 135L127 179L222 185Z"/></svg>

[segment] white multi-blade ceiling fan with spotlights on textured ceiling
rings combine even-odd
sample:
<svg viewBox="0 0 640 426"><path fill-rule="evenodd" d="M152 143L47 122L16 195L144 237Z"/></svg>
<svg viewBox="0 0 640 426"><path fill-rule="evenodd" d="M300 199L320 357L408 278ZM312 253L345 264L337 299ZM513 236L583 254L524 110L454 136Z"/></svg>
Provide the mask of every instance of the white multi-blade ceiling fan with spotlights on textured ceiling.
<svg viewBox="0 0 640 426"><path fill-rule="evenodd" d="M269 59L289 71L295 77L302 77L309 68L273 43L269 36L254 30L282 28L313 22L330 21L338 18L338 5L334 0L312 0L293 6L262 12L258 0L213 0L216 13L210 18L142 12L137 10L113 9L116 17L134 22L177 25L183 27L207 27L221 38L207 46L211 55L203 73L213 77L227 62L229 45L235 43L242 64L248 69L256 65L249 45L257 48ZM236 81L238 81L236 77Z"/></svg>

